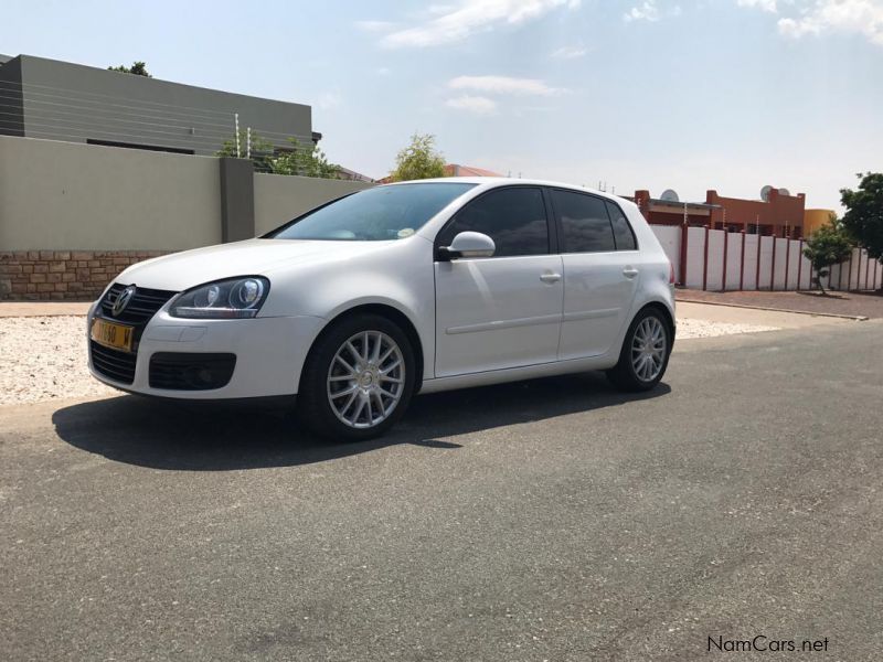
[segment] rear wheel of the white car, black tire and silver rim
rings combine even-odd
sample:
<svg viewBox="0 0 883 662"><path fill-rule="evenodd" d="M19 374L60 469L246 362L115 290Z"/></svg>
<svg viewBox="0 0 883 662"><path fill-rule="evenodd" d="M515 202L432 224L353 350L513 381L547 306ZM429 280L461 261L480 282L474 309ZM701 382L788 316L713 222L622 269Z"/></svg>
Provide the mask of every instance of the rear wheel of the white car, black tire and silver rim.
<svg viewBox="0 0 883 662"><path fill-rule="evenodd" d="M619 352L619 362L607 371L607 378L620 391L650 391L666 374L670 355L668 320L656 308L643 308L631 321Z"/></svg>

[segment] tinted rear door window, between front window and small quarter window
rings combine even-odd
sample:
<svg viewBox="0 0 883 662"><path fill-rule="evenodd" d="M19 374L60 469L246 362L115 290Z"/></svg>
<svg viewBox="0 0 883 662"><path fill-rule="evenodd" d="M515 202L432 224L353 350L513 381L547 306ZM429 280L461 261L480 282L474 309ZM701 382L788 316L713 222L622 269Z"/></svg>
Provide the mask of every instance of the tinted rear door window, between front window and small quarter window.
<svg viewBox="0 0 883 662"><path fill-rule="evenodd" d="M553 189L552 202L564 231L562 253L616 250L610 218L602 199Z"/></svg>

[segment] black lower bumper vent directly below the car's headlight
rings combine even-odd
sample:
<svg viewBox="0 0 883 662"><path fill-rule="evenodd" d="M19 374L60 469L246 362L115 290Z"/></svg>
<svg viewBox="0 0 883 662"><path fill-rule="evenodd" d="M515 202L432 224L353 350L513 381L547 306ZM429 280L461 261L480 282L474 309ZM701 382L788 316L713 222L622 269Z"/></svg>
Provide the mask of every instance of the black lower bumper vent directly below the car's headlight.
<svg viewBox="0 0 883 662"><path fill-rule="evenodd" d="M157 352L150 357L150 387L209 391L230 383L236 354Z"/></svg>

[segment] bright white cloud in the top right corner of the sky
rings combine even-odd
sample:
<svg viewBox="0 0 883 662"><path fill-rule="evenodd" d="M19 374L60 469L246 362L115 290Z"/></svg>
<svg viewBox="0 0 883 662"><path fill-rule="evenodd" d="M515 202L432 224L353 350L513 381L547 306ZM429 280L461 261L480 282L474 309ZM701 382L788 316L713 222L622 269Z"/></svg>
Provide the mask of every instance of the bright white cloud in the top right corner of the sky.
<svg viewBox="0 0 883 662"><path fill-rule="evenodd" d="M737 2L741 7L766 9L762 0ZM794 0L789 4L794 6L791 15L777 21L779 34L784 36L799 39L807 34L840 32L861 34L883 46L883 0Z"/></svg>

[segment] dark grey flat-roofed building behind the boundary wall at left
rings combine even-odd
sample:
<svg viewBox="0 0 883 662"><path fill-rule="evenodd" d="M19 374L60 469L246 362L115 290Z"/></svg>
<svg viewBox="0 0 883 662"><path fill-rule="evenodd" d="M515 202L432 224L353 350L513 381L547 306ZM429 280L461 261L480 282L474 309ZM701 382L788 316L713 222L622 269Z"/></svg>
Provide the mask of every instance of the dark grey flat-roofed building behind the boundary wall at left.
<svg viewBox="0 0 883 662"><path fill-rule="evenodd" d="M312 110L68 62L0 56L0 135L211 156L236 117L274 148L312 145ZM241 140L242 156L247 149Z"/></svg>

